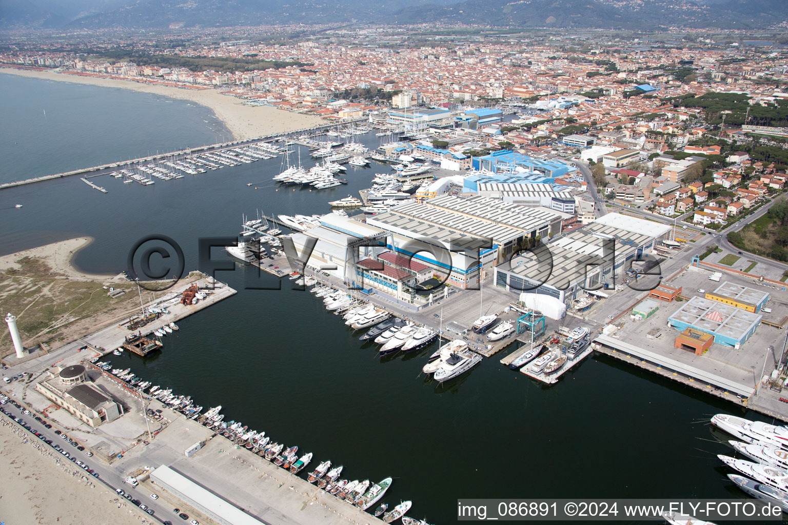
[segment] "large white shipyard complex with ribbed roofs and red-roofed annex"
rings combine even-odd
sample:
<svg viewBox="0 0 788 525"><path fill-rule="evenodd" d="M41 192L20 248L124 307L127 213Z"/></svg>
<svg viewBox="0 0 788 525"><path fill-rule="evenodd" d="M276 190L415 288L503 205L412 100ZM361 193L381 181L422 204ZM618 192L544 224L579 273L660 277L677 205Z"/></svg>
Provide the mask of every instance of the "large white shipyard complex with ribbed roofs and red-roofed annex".
<svg viewBox="0 0 788 525"><path fill-rule="evenodd" d="M320 227L294 234L292 241L296 264L420 307L430 300L418 293L426 280L476 287L481 268L506 260L526 239L557 235L561 220L545 208L444 195L394 206L366 224L329 213Z"/></svg>

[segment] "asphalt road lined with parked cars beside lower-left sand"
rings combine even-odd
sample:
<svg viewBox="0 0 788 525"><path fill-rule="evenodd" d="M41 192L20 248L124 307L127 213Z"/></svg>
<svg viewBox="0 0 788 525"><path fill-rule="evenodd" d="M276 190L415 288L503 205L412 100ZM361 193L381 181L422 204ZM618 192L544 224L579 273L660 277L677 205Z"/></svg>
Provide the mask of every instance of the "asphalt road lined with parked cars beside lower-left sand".
<svg viewBox="0 0 788 525"><path fill-rule="evenodd" d="M5 405L2 405L2 409L8 412L0 417L9 417L10 420L14 418L19 418L21 421L24 421L30 427L30 431L24 428L23 423L16 422L15 424L19 425L24 431L28 431L30 433L31 439L39 439L35 435L33 435L32 431L37 431L39 434L43 434L46 440L52 442L50 446L60 446L61 449L65 449L69 456L71 456L72 461L76 463L76 461L82 461L88 464L88 468L91 468L95 471L99 477L95 479L95 482L103 482L106 486L110 487L113 491L120 488L124 490L126 493L131 494L133 499L139 500L141 505L147 505L147 507L151 508L154 511L153 516L148 516L145 512L141 509L138 510L140 516L144 516L147 519L157 519L159 522L168 523L165 519L172 519L175 514L173 514L173 508L169 507L169 505L164 505L162 502L158 500L154 500L151 498L151 494L148 492L141 492L139 489L135 489L127 482L124 481L124 477L121 474L118 474L117 471L113 470L112 467L103 463L101 460L94 457L87 457L85 454L86 451L80 451L76 449L76 446L71 446L68 442L65 441L64 438L60 436L62 434L55 434L55 431L58 430L54 426L52 428L44 427L44 423L40 423L36 421L35 414L25 414L23 409L18 408L17 405L14 405L15 401L11 400L6 402ZM46 423L52 423L51 421L46 420ZM43 441L43 440L42 440ZM44 474L46 475L46 474ZM85 471L85 475L87 477L91 477L90 474ZM128 499L128 498L127 498ZM162 519L163 516L163 519Z"/></svg>

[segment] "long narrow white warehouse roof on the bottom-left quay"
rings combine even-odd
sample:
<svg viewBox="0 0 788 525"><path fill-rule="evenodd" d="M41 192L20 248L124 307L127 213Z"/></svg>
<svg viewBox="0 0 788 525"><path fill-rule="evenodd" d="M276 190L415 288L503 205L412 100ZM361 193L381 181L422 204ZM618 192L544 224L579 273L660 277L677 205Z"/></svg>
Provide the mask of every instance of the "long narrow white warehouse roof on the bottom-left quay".
<svg viewBox="0 0 788 525"><path fill-rule="evenodd" d="M225 525L263 525L262 521L249 516L240 508L204 489L184 475L165 465L151 472L151 479L197 508L205 509L211 518ZM202 510L201 509L201 510Z"/></svg>

